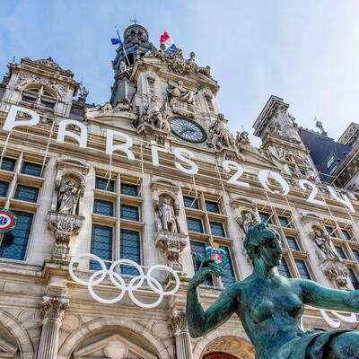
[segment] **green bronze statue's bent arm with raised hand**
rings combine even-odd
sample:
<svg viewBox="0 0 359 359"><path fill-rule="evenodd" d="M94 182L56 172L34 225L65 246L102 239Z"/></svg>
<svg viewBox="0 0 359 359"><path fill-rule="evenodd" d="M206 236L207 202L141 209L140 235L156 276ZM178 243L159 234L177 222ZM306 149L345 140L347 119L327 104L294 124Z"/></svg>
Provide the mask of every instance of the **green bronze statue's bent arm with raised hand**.
<svg viewBox="0 0 359 359"><path fill-rule="evenodd" d="M238 284L234 284L225 289L218 299L204 311L199 298L198 285L211 274L214 274L213 269L201 266L188 284L186 314L191 337L201 337L219 327L238 308L236 290Z"/></svg>

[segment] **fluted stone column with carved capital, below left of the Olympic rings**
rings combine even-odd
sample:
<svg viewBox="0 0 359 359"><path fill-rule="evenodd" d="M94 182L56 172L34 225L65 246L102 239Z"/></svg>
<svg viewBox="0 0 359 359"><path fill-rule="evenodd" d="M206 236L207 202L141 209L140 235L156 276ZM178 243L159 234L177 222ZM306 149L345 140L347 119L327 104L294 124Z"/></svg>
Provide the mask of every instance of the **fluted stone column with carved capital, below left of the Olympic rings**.
<svg viewBox="0 0 359 359"><path fill-rule="evenodd" d="M61 322L65 316L68 299L44 297L39 316L42 319L41 337L37 359L56 359Z"/></svg>

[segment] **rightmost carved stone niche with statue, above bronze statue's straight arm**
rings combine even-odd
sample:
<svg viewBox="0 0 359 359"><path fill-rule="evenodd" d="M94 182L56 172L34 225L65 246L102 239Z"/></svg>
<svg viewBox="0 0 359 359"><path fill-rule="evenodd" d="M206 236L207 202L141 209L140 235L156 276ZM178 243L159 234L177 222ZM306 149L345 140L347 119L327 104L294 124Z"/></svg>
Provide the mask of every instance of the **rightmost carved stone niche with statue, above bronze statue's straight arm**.
<svg viewBox="0 0 359 359"><path fill-rule="evenodd" d="M317 215L302 215L305 232L311 238L318 258L320 268L329 279L334 280L340 288L347 287L349 271L335 250L328 236L323 220Z"/></svg>

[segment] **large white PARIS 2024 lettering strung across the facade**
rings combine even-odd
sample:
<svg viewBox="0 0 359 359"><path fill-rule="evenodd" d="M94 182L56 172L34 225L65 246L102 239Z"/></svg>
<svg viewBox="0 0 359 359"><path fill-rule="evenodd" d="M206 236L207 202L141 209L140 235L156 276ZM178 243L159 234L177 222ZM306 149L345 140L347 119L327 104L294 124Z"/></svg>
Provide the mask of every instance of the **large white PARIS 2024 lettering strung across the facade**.
<svg viewBox="0 0 359 359"><path fill-rule="evenodd" d="M16 120L18 112L25 113L29 115L31 118L26 120ZM9 110L9 113L4 122L4 131L11 131L14 127L29 127L34 126L39 123L39 114L36 113L32 109L22 108L20 106L12 106ZM73 125L80 129L80 133L74 133L67 129L68 126ZM57 143L64 144L65 137L73 138L78 144L80 148L85 149L87 147L87 127L80 121L75 119L66 118L58 123L58 131L57 131ZM119 138L124 141L123 144L114 144L114 138ZM127 159L130 161L135 161L135 155L131 151L131 147L133 145L132 138L123 132L114 131L113 129L107 129L106 132L106 153L112 155L115 151L125 153ZM158 147L155 141L151 141L151 154L152 154L152 164L153 166L159 167L160 161L158 156ZM176 168L186 174L195 175L198 172L198 166L192 159L195 158L195 154L189 151L186 148L177 147L173 150L173 154L177 161L174 162ZM184 166L186 165L186 167ZM241 187L241 188L250 188L250 183L244 182L241 180L241 175L243 174L243 168L241 164L234 161L223 161L222 162L223 170L227 173L234 171L232 177L228 180L228 183ZM276 180L276 182L280 185L280 191L273 191L271 188L268 187L269 185L269 178L272 180ZM268 170L261 170L258 171L258 181L265 188L267 191L272 193L281 193L283 195L287 195L290 191L288 182L277 172L275 171L268 171ZM309 180L299 180L299 186L302 190L307 191L309 190L309 196L307 197L306 201L319 206L327 206L327 204L320 200L316 199L318 194L318 188ZM349 201L349 198L346 194L337 194L337 191L330 187L328 187L328 192L331 197L333 197L337 202L341 203L342 205L346 206L350 212L355 213L354 206Z"/></svg>

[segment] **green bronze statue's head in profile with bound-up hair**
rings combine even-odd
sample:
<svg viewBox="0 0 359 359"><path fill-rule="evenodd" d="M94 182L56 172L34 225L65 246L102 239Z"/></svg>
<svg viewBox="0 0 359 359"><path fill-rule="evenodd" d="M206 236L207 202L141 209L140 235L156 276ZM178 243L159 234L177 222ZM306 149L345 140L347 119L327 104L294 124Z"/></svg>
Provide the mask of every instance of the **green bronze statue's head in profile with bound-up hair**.
<svg viewBox="0 0 359 359"><path fill-rule="evenodd" d="M266 223L257 223L250 227L244 239L244 248L253 261L262 258L269 267L277 267L281 263L282 244L279 234Z"/></svg>

